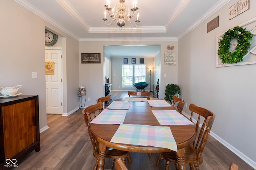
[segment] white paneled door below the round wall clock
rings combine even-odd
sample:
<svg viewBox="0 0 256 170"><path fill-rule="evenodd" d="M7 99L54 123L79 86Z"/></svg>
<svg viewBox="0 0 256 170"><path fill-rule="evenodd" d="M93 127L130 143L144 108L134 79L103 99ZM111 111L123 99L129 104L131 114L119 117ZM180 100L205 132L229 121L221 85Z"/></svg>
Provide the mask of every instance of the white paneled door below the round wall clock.
<svg viewBox="0 0 256 170"><path fill-rule="evenodd" d="M45 49L45 61L54 62L54 75L45 75L46 113L62 114L62 49Z"/></svg>

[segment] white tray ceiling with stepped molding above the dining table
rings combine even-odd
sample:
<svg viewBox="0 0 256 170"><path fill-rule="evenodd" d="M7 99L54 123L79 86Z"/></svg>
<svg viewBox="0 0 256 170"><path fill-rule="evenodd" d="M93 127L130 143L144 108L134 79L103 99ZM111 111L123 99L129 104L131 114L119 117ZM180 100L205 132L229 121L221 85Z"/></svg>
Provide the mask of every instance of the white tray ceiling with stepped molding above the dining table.
<svg viewBox="0 0 256 170"><path fill-rule="evenodd" d="M130 23L122 30L116 21L106 26L102 18L106 0L15 0L28 10L50 22L69 36L79 41L115 40L179 40L198 24L206 20L216 10L230 0L137 0L140 22L137 27ZM119 0L110 0L110 6L119 5ZM125 5L132 7L132 0ZM135 16L134 16L135 17ZM108 20L109 17L107 17ZM136 17L135 17L136 18ZM134 22L132 19L132 22ZM111 56L131 55L125 49L107 53ZM105 47L106 49L112 47ZM157 47L137 46L140 51L153 51ZM159 52L159 47L158 47ZM138 51L136 52L138 55ZM146 52L145 52L146 53ZM146 55L154 55L156 51ZM143 52L142 54L143 55ZM123 55L122 55L123 56Z"/></svg>

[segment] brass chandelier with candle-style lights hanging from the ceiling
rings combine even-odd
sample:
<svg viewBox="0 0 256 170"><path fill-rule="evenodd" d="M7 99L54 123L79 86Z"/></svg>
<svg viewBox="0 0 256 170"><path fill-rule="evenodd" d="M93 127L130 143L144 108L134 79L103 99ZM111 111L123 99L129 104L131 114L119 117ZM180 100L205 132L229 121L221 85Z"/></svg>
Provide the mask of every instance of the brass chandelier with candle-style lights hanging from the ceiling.
<svg viewBox="0 0 256 170"><path fill-rule="evenodd" d="M128 6L124 6L124 2L125 0L119 0L120 5L115 5L114 8L110 8L110 0L107 0L107 4L104 5L106 7L106 10L104 12L104 18L102 20L104 20L105 24L107 26L109 26L113 21L117 20L116 24L120 27L120 30L122 30L122 27L125 25L125 21L130 22L130 24L132 25L131 19L132 17L136 14L137 10L139 10L139 8L137 7L137 0L132 1L132 8L130 9L131 13L129 12L129 7ZM106 14L109 14L110 18L111 18L111 22L109 24L106 23L106 21L108 20L106 18ZM137 20L135 20L136 25L132 25L133 27L136 27L138 25L138 22L140 22L139 20L139 13L137 14Z"/></svg>

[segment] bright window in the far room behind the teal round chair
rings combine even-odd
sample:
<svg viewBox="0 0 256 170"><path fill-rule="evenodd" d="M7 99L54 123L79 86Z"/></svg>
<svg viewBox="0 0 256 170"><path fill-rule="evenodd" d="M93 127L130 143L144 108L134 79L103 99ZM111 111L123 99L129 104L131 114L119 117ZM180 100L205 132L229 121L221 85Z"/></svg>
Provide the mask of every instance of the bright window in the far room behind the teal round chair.
<svg viewBox="0 0 256 170"><path fill-rule="evenodd" d="M122 65L122 87L138 82L146 82L146 65Z"/></svg>

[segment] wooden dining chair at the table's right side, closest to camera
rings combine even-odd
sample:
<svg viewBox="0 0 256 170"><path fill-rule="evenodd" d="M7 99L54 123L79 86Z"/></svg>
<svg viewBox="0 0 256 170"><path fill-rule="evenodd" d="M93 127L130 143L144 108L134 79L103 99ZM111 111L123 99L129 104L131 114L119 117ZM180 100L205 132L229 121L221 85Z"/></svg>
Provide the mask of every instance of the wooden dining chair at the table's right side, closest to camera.
<svg viewBox="0 0 256 170"><path fill-rule="evenodd" d="M211 111L208 111L207 109L198 107L194 104L189 105L189 110L191 111L190 121L192 121L192 117L194 113L198 114L198 119L195 127L197 136L192 144L185 147L184 163L188 163L190 165L190 170L194 169L193 165L195 166L196 170L199 170L199 165L202 164L203 162L202 153L204 151L204 147L208 140L208 136L210 134L210 131L215 119L215 114L212 113ZM199 128L200 118L204 119L204 123L202 124L201 128ZM159 154L156 165L159 165L159 162L162 156L166 160L166 166L165 166L166 170L169 169L170 162L174 162L176 165L177 163L176 152L163 152Z"/></svg>

